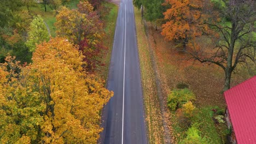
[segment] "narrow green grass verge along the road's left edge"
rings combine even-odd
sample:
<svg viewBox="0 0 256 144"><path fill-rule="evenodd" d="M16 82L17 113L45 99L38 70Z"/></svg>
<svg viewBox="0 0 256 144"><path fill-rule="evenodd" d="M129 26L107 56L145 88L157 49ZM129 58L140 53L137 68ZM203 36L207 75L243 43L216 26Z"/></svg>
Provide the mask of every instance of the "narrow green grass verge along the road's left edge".
<svg viewBox="0 0 256 144"><path fill-rule="evenodd" d="M115 36L115 25L117 23L118 16L118 6L113 3L104 2L105 7L109 8L109 14L106 17L103 17L103 21L105 23L104 31L106 32L106 36L103 39L103 43L108 47L106 52L106 56L104 56L103 63L105 63L104 67L100 68L100 74L104 80L107 80L108 69L111 59L112 47L114 43Z"/></svg>

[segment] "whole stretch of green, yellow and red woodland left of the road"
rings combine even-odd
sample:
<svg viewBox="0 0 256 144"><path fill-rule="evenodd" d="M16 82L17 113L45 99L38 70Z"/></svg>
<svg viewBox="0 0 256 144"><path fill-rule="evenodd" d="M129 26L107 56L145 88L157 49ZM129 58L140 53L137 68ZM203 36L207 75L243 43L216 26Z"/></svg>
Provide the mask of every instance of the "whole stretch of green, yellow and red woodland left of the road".
<svg viewBox="0 0 256 144"><path fill-rule="evenodd" d="M0 2L0 143L96 143L117 6Z"/></svg>

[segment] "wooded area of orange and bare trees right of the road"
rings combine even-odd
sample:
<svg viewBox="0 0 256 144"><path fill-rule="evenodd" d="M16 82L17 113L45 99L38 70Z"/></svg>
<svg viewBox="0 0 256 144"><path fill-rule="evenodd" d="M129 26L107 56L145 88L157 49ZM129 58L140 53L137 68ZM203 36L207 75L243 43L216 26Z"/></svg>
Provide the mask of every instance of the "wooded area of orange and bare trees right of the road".
<svg viewBox="0 0 256 144"><path fill-rule="evenodd" d="M162 35L182 47L180 51L201 63L221 67L225 71L224 91L230 88L237 64L249 66L255 74L254 1L134 0L133 4L142 9L146 20L161 21ZM202 46L202 39L211 45Z"/></svg>

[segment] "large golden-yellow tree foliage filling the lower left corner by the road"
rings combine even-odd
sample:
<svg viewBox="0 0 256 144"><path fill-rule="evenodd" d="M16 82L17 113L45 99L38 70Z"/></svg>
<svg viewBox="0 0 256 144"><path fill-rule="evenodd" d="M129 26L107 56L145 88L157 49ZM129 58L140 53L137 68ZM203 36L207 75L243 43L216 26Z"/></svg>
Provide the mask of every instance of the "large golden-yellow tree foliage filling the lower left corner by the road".
<svg viewBox="0 0 256 144"><path fill-rule="evenodd" d="M0 67L1 143L96 143L110 93L84 71L83 55L63 38L38 45L31 65Z"/></svg>

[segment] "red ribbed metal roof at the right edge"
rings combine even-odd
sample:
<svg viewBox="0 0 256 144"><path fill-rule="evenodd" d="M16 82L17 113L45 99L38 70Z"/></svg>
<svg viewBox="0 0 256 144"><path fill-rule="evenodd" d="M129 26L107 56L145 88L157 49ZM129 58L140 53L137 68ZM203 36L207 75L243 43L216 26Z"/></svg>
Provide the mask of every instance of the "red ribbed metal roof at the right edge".
<svg viewBox="0 0 256 144"><path fill-rule="evenodd" d="M256 76L224 92L238 144L256 143Z"/></svg>

